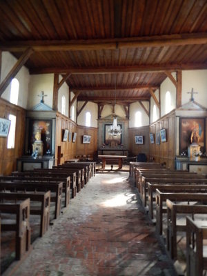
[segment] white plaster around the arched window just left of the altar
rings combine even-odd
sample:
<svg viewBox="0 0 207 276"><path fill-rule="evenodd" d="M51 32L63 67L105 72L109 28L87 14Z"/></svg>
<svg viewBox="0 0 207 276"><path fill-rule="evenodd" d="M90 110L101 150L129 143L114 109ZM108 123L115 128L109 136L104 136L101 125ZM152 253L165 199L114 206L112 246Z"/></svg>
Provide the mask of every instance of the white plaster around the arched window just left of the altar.
<svg viewBox="0 0 207 276"><path fill-rule="evenodd" d="M80 110L81 106L83 106L83 101L78 102L78 110ZM89 101L86 106L81 111L81 114L77 118L77 124L79 126L86 126L86 112L90 112L91 114L91 127L97 128L98 127L98 105L97 103L92 103Z"/></svg>

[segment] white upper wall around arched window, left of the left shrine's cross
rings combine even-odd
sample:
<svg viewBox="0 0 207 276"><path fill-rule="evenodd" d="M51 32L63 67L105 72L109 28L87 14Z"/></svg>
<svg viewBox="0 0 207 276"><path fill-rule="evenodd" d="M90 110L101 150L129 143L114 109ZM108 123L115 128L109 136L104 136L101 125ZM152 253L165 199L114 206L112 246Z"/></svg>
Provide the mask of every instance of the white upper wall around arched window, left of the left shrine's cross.
<svg viewBox="0 0 207 276"><path fill-rule="evenodd" d="M10 52L2 52L2 62L1 62L1 81L5 79L8 75L8 72L13 68L14 64L17 62L17 59L10 54ZM18 97L18 106L22 108L27 108L28 101L28 85L30 81L30 74L28 69L23 66L17 75L14 77L19 81L19 97ZM11 84L6 88L1 97L10 101L10 90Z"/></svg>

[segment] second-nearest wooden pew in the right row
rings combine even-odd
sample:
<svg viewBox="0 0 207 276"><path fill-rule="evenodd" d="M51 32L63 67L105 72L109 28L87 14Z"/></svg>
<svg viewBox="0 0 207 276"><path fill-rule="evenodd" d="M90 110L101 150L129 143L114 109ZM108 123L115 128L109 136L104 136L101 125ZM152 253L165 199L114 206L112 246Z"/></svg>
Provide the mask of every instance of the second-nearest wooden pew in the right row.
<svg viewBox="0 0 207 276"><path fill-rule="evenodd" d="M186 217L181 221L177 221L177 215L191 215L192 218L196 214L207 214L207 206L205 205L186 205L175 204L167 199L167 250L172 259L177 259L177 231L186 232Z"/></svg>

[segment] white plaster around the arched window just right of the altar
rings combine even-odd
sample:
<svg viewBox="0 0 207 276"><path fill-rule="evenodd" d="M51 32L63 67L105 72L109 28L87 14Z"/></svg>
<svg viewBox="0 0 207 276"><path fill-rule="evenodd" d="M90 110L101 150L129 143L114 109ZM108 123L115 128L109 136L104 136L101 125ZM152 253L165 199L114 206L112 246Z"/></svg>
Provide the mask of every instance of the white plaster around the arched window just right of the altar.
<svg viewBox="0 0 207 276"><path fill-rule="evenodd" d="M142 101L144 104L146 110L149 111L149 102L148 101ZM141 107L140 103L137 101L136 103L130 104L130 120L129 120L129 128L136 128L135 125L135 113L137 111L141 112L141 126L148 126L150 121L148 115L146 115L146 112Z"/></svg>

